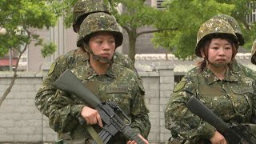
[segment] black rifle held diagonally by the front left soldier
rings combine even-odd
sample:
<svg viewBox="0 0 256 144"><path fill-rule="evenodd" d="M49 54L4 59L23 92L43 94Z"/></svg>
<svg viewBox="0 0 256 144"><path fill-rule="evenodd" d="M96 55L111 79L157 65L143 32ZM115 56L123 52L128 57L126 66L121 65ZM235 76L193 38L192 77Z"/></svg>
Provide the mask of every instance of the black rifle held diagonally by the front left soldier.
<svg viewBox="0 0 256 144"><path fill-rule="evenodd" d="M94 108L100 114L105 126L102 127L102 131L98 134L104 143L108 142L118 132L121 132L127 140L134 140L138 144L144 144L138 134L129 126L130 119L119 108L115 102L100 102L99 99L88 90L82 82L70 71L66 70L55 82L59 90L70 92L83 102ZM115 114L115 111L121 113L127 120L128 124L122 121L121 118Z"/></svg>

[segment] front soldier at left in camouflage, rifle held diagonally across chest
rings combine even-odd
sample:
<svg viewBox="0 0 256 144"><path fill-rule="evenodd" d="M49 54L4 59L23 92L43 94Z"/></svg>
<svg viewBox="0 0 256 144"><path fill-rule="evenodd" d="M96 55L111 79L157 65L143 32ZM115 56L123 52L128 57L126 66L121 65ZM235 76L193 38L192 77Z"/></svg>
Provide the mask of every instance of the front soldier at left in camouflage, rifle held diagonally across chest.
<svg viewBox="0 0 256 144"><path fill-rule="evenodd" d="M89 54L83 66L70 69L101 102L116 102L130 118L130 127L145 143L150 132L148 109L144 101L142 82L134 71L111 62L114 51L122 45L122 33L118 23L110 14L98 12L88 15L81 24L78 46ZM67 100L68 99L68 100ZM78 117L86 124L79 125ZM121 117L124 122L126 118ZM102 119L97 110L91 109L72 94L58 90L50 106L49 124L59 134L70 132L72 142L92 142L84 130L92 126L96 132L102 130ZM134 143L116 134L108 143Z"/></svg>

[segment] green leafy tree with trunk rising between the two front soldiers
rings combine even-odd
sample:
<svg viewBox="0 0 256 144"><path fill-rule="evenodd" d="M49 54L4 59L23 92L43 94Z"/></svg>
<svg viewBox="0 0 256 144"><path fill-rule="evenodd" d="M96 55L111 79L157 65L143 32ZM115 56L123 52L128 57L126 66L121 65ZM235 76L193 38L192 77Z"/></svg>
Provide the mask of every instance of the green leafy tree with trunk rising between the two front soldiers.
<svg viewBox="0 0 256 144"><path fill-rule="evenodd" d="M72 9L77 0L63 0L59 6L65 10L66 26L71 26ZM129 38L129 57L134 60L136 38L154 33L154 46L163 46L178 58L195 58L194 48L199 27L216 14L236 18L246 40L244 48L250 49L255 37L255 24L246 18L254 9L251 0L166 0L165 9L157 10L146 5L146 0L105 0L110 2L110 12L126 30ZM248 4L251 7L248 7ZM122 6L120 5L122 4ZM142 26L153 30L138 31Z"/></svg>

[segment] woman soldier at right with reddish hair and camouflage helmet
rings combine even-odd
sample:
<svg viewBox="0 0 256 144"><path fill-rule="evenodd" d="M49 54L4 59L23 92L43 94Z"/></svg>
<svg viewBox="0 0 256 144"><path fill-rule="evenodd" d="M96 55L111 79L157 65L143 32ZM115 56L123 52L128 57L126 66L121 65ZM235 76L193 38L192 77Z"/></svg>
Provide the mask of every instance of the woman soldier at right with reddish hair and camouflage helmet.
<svg viewBox="0 0 256 144"><path fill-rule="evenodd" d="M166 105L165 126L187 143L227 143L214 126L192 114L186 102L194 96L227 123L251 123L255 83L230 66L237 54L238 38L229 22L218 18L204 22L195 47L202 62L175 86Z"/></svg>

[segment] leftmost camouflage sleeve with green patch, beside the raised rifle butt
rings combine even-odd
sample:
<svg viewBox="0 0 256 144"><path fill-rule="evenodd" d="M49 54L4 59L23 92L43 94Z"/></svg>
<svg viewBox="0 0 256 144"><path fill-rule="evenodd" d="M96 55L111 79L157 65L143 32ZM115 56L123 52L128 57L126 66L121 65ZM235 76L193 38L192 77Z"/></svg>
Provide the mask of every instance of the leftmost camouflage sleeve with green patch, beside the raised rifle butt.
<svg viewBox="0 0 256 144"><path fill-rule="evenodd" d="M56 88L54 87L54 82L56 79L66 70L66 59L62 56L57 58L50 66L48 74L44 78L38 93L35 96L35 106L37 109L46 117L49 117L50 102L53 101L54 94L56 93Z"/></svg>

